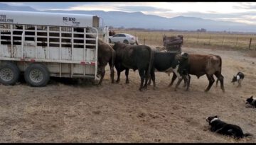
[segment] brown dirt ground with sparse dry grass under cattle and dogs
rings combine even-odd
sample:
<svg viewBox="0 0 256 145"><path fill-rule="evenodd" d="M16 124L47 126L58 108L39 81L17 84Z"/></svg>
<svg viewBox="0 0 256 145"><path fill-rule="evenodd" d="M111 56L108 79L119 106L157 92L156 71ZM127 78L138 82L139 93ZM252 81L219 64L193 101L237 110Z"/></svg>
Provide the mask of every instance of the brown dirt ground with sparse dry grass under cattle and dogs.
<svg viewBox="0 0 256 145"><path fill-rule="evenodd" d="M33 88L21 79L15 86L0 84L0 142L255 143L256 109L246 108L244 100L256 95L256 58L230 50L183 47L183 52L220 55L225 93L215 84L205 93L206 76L191 76L190 91L183 84L174 91L168 88L172 74L161 72L156 90L140 92L138 71L130 70L129 84L124 72L119 84L112 84L109 66L102 86L51 79L48 86ZM242 88L230 83L238 71L245 74ZM237 141L210 132L210 115L254 136Z"/></svg>

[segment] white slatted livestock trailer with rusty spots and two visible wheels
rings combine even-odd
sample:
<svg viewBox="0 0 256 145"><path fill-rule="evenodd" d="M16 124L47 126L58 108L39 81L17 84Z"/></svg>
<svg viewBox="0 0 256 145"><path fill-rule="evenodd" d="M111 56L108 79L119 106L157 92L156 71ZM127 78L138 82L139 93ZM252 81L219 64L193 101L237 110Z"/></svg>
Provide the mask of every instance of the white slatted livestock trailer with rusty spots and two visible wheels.
<svg viewBox="0 0 256 145"><path fill-rule="evenodd" d="M99 80L98 27L92 15L0 11L0 83L14 85L20 74L31 86L50 76Z"/></svg>

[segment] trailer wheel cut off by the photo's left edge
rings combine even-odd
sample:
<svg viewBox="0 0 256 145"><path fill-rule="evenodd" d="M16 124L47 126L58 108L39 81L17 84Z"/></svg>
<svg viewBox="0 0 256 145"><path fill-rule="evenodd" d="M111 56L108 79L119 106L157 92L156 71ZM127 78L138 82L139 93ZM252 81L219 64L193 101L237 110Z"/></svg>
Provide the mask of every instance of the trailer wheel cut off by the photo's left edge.
<svg viewBox="0 0 256 145"><path fill-rule="evenodd" d="M14 85L19 78L20 70L12 62L4 62L0 66L0 83L4 85Z"/></svg>

